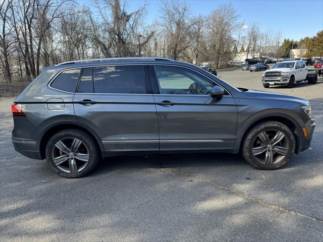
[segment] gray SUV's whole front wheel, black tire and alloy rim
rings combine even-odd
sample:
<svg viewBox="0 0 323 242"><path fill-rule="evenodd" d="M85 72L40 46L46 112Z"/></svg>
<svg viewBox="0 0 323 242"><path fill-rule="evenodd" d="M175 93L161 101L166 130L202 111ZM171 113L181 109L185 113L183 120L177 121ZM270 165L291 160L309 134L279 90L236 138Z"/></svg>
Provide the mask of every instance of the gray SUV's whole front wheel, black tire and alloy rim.
<svg viewBox="0 0 323 242"><path fill-rule="evenodd" d="M286 125L265 122L255 126L247 134L242 154L254 167L272 170L283 166L291 159L295 146L295 137Z"/></svg>

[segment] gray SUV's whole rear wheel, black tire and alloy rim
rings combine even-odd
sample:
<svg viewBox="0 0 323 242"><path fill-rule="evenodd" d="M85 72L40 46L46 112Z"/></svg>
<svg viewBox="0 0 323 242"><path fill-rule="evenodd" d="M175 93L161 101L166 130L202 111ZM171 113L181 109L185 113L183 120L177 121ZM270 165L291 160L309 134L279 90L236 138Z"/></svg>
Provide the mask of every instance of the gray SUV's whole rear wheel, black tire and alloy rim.
<svg viewBox="0 0 323 242"><path fill-rule="evenodd" d="M88 174L100 158L93 137L74 129L60 131L51 137L45 153L49 166L67 178Z"/></svg>

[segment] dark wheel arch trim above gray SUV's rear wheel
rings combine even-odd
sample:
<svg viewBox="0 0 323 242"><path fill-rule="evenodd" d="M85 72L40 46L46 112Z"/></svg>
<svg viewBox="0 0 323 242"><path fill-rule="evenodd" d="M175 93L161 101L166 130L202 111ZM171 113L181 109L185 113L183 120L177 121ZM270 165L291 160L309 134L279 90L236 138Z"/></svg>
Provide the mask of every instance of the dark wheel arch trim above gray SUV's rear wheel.
<svg viewBox="0 0 323 242"><path fill-rule="evenodd" d="M101 151L101 156L105 157L103 144L99 136L88 126L69 120L51 124L46 129L44 129L43 132L39 135L39 138L37 140L37 146L39 148L42 159L45 158L45 149L50 137L66 129L78 129L92 136L95 139L96 144Z"/></svg>

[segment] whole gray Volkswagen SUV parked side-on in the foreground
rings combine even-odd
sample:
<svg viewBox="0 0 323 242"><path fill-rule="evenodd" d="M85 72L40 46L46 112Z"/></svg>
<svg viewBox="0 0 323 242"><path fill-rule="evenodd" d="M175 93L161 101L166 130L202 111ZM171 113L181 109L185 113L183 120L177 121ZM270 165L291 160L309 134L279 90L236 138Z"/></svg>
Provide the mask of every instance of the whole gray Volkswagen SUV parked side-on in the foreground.
<svg viewBox="0 0 323 242"><path fill-rule="evenodd" d="M12 104L16 151L81 177L103 157L241 152L259 169L306 150L307 100L235 88L167 58L91 59L44 70Z"/></svg>

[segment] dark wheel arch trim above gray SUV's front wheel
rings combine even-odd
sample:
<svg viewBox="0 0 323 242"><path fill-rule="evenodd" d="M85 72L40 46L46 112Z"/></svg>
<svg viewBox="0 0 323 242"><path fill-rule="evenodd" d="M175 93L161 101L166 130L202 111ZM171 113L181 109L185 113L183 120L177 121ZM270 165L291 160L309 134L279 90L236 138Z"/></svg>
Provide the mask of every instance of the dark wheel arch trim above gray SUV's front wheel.
<svg viewBox="0 0 323 242"><path fill-rule="evenodd" d="M255 127L260 123L269 122L269 121L282 123L292 131L296 142L294 153L298 154L300 149L301 139L302 139L301 137L302 128L293 117L289 115L284 115L284 114L267 114L267 115L258 117L256 119L253 119L251 122L249 122L249 124L246 127L244 127L244 129L240 133L239 138L236 141L236 145L233 153L239 153L241 151L243 140L253 127Z"/></svg>

